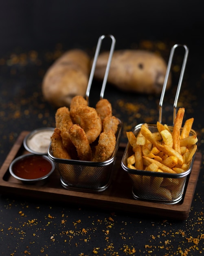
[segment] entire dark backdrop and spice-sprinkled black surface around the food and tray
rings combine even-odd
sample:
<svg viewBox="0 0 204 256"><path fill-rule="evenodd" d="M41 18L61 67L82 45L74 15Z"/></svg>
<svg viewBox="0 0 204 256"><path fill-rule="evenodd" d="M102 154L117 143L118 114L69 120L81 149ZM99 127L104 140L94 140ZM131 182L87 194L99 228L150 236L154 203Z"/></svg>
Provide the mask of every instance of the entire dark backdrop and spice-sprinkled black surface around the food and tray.
<svg viewBox="0 0 204 256"><path fill-rule="evenodd" d="M144 48L146 42L166 61L174 43L189 46L178 105L186 109L185 119L195 118L198 150L204 155L203 5L202 0L0 0L0 166L22 130L55 126L56 108L41 91L48 67L73 47L93 53L99 36L109 33L116 37L116 49ZM161 43L164 48L158 47ZM123 139L125 129L158 120L160 95L124 93L111 85L105 92L123 121ZM165 110L172 110L174 92L172 86ZM170 117L171 124L172 112ZM189 218L183 221L2 191L0 251L49 256L202 255L203 170L202 159Z"/></svg>

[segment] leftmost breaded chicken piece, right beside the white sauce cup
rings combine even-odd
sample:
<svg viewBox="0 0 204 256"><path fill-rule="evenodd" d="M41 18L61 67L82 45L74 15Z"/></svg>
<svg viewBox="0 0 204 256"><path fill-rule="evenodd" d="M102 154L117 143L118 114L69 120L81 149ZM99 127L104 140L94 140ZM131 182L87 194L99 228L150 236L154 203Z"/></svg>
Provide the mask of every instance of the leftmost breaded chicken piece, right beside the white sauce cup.
<svg viewBox="0 0 204 256"><path fill-rule="evenodd" d="M53 135L51 136L51 146L53 150L53 156L61 159L71 159L66 148L64 147L61 139L61 131L55 128Z"/></svg>

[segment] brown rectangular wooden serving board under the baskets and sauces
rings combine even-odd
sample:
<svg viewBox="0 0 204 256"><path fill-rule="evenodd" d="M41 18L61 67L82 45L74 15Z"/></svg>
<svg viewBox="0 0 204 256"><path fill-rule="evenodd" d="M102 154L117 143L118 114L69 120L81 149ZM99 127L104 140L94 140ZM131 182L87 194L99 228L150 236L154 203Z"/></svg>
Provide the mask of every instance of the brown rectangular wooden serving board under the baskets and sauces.
<svg viewBox="0 0 204 256"><path fill-rule="evenodd" d="M189 216L195 186L200 172L202 154L197 152L193 169L189 175L182 201L178 204L161 204L135 200L132 196L132 184L128 174L121 168L121 159L124 145L119 147L113 177L110 186L103 192L79 192L66 190L61 186L57 170L48 178L44 185L23 184L13 178L9 173L9 165L14 158L28 153L23 146L23 139L28 134L23 131L5 159L0 169L0 192L14 194L41 200L52 200L86 205L94 208L110 209L112 211L126 211L129 213L142 213L143 215L161 216L185 220Z"/></svg>

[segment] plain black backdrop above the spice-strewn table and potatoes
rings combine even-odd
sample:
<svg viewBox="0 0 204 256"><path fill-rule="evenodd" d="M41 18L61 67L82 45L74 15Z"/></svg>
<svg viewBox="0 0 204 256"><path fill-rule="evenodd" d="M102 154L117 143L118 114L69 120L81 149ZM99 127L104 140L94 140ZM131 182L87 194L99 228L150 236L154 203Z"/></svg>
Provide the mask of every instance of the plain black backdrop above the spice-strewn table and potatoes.
<svg viewBox="0 0 204 256"><path fill-rule="evenodd" d="M0 52L23 47L92 47L113 34L118 48L141 39L203 44L201 0L8 0L0 4Z"/></svg>

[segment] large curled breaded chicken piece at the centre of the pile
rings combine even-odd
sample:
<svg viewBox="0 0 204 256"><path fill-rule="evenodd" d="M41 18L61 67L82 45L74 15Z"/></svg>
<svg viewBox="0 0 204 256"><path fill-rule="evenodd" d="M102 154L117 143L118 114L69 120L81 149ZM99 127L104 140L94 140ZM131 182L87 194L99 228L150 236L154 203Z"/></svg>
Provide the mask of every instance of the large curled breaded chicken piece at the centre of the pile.
<svg viewBox="0 0 204 256"><path fill-rule="evenodd" d="M75 111L75 119L76 123L85 131L89 144L99 137L102 131L102 122L95 108L79 106Z"/></svg>

